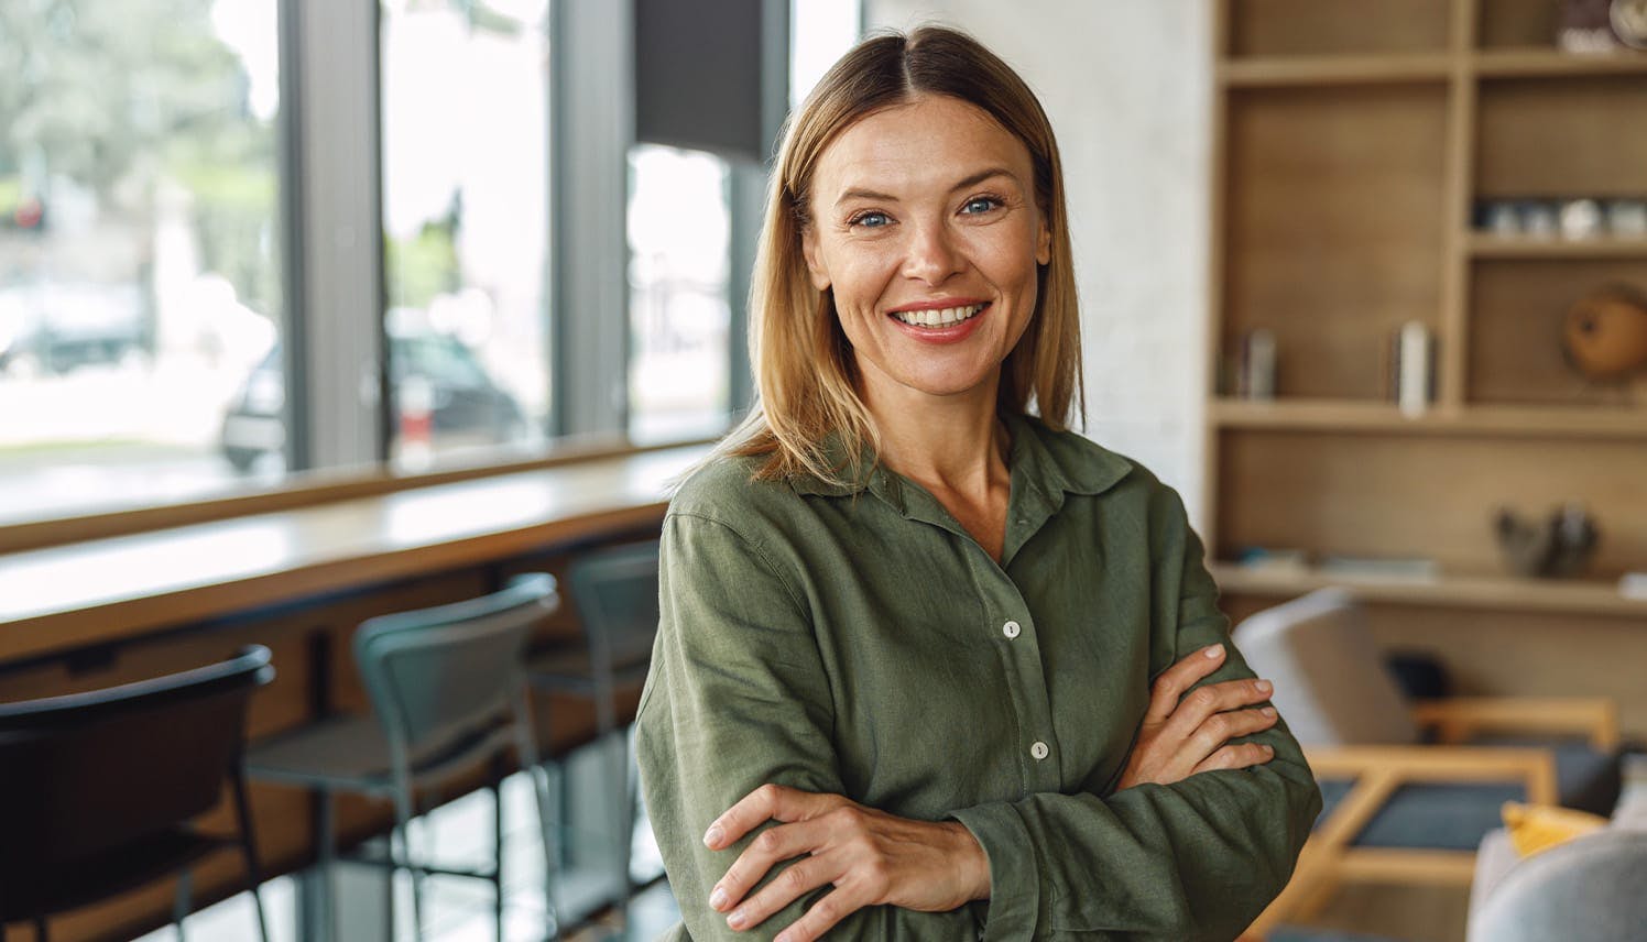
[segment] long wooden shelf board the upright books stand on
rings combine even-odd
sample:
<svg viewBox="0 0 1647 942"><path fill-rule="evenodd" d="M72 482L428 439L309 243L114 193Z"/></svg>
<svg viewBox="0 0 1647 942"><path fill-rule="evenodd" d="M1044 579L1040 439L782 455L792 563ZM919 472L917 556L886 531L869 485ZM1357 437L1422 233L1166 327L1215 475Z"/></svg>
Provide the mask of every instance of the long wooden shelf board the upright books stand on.
<svg viewBox="0 0 1647 942"><path fill-rule="evenodd" d="M1211 420L1219 428L1647 440L1647 408L1477 405L1461 410L1436 407L1407 417L1385 402L1217 399L1211 405Z"/></svg>

